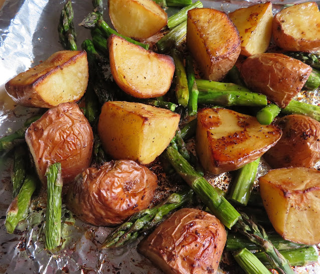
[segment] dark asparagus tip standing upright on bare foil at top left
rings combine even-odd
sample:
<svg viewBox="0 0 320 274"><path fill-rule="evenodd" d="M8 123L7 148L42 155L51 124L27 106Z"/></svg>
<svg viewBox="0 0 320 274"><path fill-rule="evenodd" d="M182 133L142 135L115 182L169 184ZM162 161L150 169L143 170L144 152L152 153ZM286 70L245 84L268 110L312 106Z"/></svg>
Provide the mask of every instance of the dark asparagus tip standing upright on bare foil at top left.
<svg viewBox="0 0 320 274"><path fill-rule="evenodd" d="M66 50L77 50L76 32L73 25L73 9L71 0L63 6L59 25L59 40Z"/></svg>

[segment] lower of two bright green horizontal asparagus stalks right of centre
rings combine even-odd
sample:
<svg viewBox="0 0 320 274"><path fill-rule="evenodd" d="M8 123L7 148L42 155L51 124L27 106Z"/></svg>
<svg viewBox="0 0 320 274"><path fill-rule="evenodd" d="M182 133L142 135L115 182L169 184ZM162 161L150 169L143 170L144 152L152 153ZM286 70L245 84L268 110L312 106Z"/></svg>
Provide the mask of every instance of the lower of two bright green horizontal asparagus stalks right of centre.
<svg viewBox="0 0 320 274"><path fill-rule="evenodd" d="M267 97L263 94L246 91L212 91L199 92L198 103L220 104L225 106L266 106Z"/></svg>

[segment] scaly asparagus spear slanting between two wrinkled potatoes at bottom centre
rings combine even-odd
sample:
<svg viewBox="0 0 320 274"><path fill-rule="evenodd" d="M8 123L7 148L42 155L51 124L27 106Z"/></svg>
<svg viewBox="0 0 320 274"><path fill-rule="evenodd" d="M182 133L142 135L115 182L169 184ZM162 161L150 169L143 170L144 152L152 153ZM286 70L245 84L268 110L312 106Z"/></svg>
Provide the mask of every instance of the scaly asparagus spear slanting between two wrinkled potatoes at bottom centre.
<svg viewBox="0 0 320 274"><path fill-rule="evenodd" d="M119 247L134 241L143 231L149 230L161 222L164 216L189 203L192 197L193 191L186 189L171 194L162 204L137 212L108 235L101 248Z"/></svg>

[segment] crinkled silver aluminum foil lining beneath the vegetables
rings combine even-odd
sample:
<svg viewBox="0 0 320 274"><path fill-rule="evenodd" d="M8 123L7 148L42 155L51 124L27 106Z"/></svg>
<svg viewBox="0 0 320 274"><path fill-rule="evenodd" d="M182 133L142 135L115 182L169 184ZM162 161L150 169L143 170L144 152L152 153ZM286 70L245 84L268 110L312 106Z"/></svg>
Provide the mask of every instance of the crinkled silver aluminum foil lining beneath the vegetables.
<svg viewBox="0 0 320 274"><path fill-rule="evenodd" d="M212 2L202 1L204 7L231 12L240 7L248 7L259 1ZM297 1L294 3L301 3ZM104 3L105 7L107 3ZM292 1L274 1L274 11ZM18 73L46 60L52 53L62 50L58 42L57 23L64 1L54 0L7 0L0 10L0 136L17 130L29 117L38 112L14 104L5 92L5 83ZM77 26L92 10L91 0L73 1L78 46L90 37L89 31ZM174 13L169 10L168 13ZM107 12L105 12L107 15ZM106 21L107 16L105 16ZM110 22L109 22L110 23ZM301 94L308 98L309 95ZM318 94L312 94L312 103L319 103ZM301 97L302 98L302 97ZM63 208L62 233L65 241L55 252L44 249L43 229L45 210L42 196L33 201L31 214L18 229L21 233L8 234L5 230L5 216L12 201L10 155L0 156L0 273L162 273L152 263L138 254L136 244L126 248L100 250L99 246L110 233L111 228L95 227L81 222ZM154 203L179 189L172 179L161 174L155 163L152 167L161 175L162 186L157 189ZM159 169L159 170L157 170ZM265 173L267 166L259 168L259 175ZM217 177L208 176L212 183L226 189L231 180L229 174ZM16 230L18 231L18 230ZM224 263L225 264L225 263ZM319 264L297 267L299 273L320 273ZM235 264L228 264L218 273L240 273Z"/></svg>

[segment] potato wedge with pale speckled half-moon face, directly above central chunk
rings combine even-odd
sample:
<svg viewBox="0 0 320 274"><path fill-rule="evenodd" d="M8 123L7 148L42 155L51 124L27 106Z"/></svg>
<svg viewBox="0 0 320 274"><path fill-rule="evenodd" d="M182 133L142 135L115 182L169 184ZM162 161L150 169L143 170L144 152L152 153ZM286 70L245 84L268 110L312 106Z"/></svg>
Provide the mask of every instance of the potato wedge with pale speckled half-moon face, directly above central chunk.
<svg viewBox="0 0 320 274"><path fill-rule="evenodd" d="M113 79L124 92L137 98L167 93L175 73L170 56L147 51L116 35L109 37L108 45Z"/></svg>

